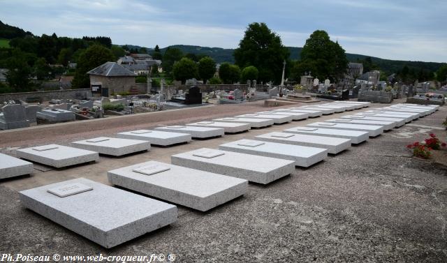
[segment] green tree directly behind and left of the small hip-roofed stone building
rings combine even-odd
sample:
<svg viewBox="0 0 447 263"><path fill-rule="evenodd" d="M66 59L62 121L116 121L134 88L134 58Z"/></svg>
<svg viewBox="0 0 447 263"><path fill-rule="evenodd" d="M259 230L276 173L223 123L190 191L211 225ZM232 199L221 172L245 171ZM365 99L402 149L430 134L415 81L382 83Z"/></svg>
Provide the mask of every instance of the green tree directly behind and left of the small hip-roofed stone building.
<svg viewBox="0 0 447 263"><path fill-rule="evenodd" d="M75 77L72 82L73 87L77 89L88 88L90 80L87 72L108 61L115 61L115 56L107 47L92 45L87 48L78 59L78 66L76 66Z"/></svg>

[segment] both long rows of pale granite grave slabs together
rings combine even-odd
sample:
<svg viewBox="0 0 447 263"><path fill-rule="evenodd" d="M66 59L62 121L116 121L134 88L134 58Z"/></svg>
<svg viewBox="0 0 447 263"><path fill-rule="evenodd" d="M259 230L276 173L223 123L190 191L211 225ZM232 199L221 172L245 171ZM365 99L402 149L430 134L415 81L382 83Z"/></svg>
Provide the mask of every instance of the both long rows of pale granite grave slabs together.
<svg viewBox="0 0 447 263"><path fill-rule="evenodd" d="M133 130L117 137L96 137L73 146L48 144L18 149L17 157L0 153L0 179L33 172L33 163L67 167L98 160L98 154L123 156L149 151L151 144L170 146L193 138L220 137L321 115L357 110L369 103L344 101L289 107L270 112L200 121L184 126ZM171 156L171 163L148 161L108 172L112 185L79 178L20 192L24 207L63 225L105 248L170 225L177 206L208 211L247 192L248 182L268 184L360 144L386 130L432 114L436 105L397 104L258 135L254 140L221 144ZM22 160L25 159L25 160ZM256 164L256 165L254 165ZM162 202L159 200L165 200ZM169 203L167 203L169 202Z"/></svg>

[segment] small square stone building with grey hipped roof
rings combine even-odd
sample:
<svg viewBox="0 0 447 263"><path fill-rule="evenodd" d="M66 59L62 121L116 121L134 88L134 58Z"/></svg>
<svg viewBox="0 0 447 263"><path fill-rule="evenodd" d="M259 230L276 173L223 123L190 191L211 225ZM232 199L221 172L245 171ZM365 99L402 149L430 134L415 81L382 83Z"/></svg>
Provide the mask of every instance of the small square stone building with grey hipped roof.
<svg viewBox="0 0 447 263"><path fill-rule="evenodd" d="M99 96L131 92L136 87L136 74L116 62L105 62L87 74L90 76L91 92Z"/></svg>

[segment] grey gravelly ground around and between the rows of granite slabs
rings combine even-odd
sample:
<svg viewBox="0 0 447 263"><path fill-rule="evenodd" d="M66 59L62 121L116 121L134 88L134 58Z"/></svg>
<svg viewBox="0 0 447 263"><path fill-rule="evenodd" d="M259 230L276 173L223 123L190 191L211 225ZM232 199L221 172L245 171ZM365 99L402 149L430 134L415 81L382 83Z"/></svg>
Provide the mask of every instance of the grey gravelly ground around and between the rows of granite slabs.
<svg viewBox="0 0 447 263"><path fill-rule="evenodd" d="M399 101L397 101L399 102ZM397 103L396 102L396 103ZM372 105L383 107L385 105ZM17 147L69 145L96 135L153 128L265 110L261 103L218 105L179 112L138 114L134 119L65 123L0 133L0 151ZM367 109L365 109L367 110ZM429 133L446 140L441 127L447 107L368 142L297 168L268 186L249 184L243 197L206 213L179 206L176 223L107 250L22 208L17 191L85 177L109 184L106 173L201 147L332 119L332 114L293 121L212 140L194 140L123 158L53 170L36 165L31 176L0 181L0 254L151 255L174 254L175 262L447 262L447 170L412 158L406 144ZM254 164L256 165L256 164ZM44 172L43 172L44 171Z"/></svg>

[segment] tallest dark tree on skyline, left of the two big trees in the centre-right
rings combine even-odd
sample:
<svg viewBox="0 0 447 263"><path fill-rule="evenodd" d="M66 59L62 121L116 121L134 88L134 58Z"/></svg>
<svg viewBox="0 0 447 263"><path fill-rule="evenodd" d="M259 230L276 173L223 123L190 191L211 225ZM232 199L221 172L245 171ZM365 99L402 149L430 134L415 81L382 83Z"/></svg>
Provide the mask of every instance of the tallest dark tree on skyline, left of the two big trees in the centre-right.
<svg viewBox="0 0 447 263"><path fill-rule="evenodd" d="M244 38L234 52L235 64L242 68L255 66L263 82L281 81L283 61L290 55L281 38L264 23L249 24Z"/></svg>

